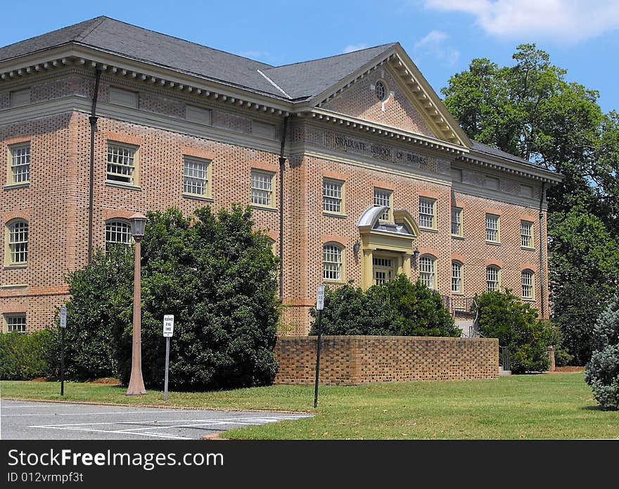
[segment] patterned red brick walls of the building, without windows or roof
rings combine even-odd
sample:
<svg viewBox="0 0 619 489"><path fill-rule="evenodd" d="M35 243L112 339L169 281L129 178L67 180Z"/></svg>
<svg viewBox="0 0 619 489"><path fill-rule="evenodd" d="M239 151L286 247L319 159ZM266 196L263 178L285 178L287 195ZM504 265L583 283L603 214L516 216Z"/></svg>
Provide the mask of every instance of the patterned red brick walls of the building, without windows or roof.
<svg viewBox="0 0 619 489"><path fill-rule="evenodd" d="M66 275L87 264L94 70L82 61L72 58L57 63L55 70L35 69L24 79L3 77L0 81L2 161L8 160L11 144L30 143L30 182L14 185L8 180L8 170L2 172L7 178L0 198L4 254L6 225L11 220L27 221L29 236L27 265L11 266L5 256L8 266L0 272L0 312L25 312L28 331L51 324L56 307L68 298ZM343 249L343 273L331 286L346 281L367 286L368 258L383 252L400 260L402 269L415 280L418 264L410 257L418 249L421 257L435 260L435 286L443 296L453 296L451 263L459 260L464 264L464 296L485 291L485 267L494 264L501 269L502 286L516 293L521 288L521 271L532 270L532 303L538 308L542 300L547 304L547 293L543 297L540 293L540 248L546 276L545 212L543 239L538 231L541 179L528 170L501 170L500 165L510 163L500 158L477 154L466 160L468 148L454 146L453 137L450 142L442 139L435 130L438 122L430 123L430 116L423 112L427 97L423 104L417 101L398 78L395 65L384 63L340 89L326 103L317 104L321 112L298 113L276 110L264 98L251 102L238 94L220 95L215 89L188 90L185 84L137 75L120 65L94 65L104 69L94 137L95 248L103 248L106 220L115 217L126 219L134 212L170 206L191 213L204 205L214 210L230 208L232 203L249 205L250 172L255 168L273 174L273 205L253 206L253 217L256 227L274 239L274 253L282 247L281 334L309 331L309 308L317 285L325 282L322 250L327 242ZM378 80L390 92L385 103L372 90ZM136 92L138 107L112 103L110 87ZM30 104L11 106L11 93L28 88ZM208 110L208 118L190 119L188 106L203 109L198 114ZM342 119L347 116L367 125ZM283 243L279 243L279 151L285 117ZM384 127L400 132L386 132ZM108 141L137 148L136 185L106 182ZM184 155L212 160L212 196L196 198L183 193ZM457 181L452 177L454 169L461 172ZM497 189L483 188L487 177L499 179ZM325 178L343 182L345 211L341 215L323 212ZM530 188L530 195L521 195L522 185ZM416 222L420 198L432 199L435 226L404 240L405 250L377 248L372 231L364 235L358 227L359 218L374 203L374 188L391 191L393 209L406 211ZM462 237L451 234L453 206L463 209ZM486 212L500 215L500 244L485 241ZM533 223L531 249L521 247L521 220ZM362 241L359 253L353 251L357 241Z"/></svg>

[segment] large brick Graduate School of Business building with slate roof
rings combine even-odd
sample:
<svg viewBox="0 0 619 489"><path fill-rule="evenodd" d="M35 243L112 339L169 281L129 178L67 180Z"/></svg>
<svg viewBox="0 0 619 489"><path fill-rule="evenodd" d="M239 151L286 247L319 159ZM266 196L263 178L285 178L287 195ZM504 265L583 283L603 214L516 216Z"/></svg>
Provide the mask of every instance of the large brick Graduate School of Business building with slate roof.
<svg viewBox="0 0 619 489"><path fill-rule="evenodd" d="M4 331L50 324L134 212L231 203L274 240L288 332L317 285L397 273L548 315L561 177L468 139L397 43L273 67L94 18L0 49L0 151Z"/></svg>

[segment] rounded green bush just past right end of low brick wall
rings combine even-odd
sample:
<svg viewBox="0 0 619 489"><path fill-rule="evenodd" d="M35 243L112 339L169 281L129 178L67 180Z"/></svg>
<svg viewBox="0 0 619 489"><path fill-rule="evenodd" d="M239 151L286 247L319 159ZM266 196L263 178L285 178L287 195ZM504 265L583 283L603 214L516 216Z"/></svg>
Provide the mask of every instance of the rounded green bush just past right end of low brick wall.
<svg viewBox="0 0 619 489"><path fill-rule="evenodd" d="M509 363L514 374L546 371L548 347L553 329L540 321L537 310L522 303L511 291L486 292L477 296L478 329L487 338L498 338L509 348Z"/></svg>

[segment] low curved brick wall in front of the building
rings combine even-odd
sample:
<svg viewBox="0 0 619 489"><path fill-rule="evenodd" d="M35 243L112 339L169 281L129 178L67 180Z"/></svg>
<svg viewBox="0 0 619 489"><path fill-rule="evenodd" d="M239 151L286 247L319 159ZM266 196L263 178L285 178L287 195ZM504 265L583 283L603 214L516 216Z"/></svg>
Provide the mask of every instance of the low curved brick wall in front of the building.
<svg viewBox="0 0 619 489"><path fill-rule="evenodd" d="M312 384L317 336L280 336L274 383ZM320 383L356 386L372 382L496 379L495 338L423 336L323 336Z"/></svg>

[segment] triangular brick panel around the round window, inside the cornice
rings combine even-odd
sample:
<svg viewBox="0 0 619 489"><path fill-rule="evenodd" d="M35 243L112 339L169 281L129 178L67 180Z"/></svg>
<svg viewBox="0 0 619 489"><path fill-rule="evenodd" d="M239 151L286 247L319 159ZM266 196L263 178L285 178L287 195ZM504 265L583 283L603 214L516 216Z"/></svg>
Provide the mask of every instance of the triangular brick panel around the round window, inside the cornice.
<svg viewBox="0 0 619 489"><path fill-rule="evenodd" d="M383 83L388 92L384 102L376 95L375 87L378 81ZM437 137L423 120L419 110L414 107L414 103L407 98L400 84L385 68L370 72L322 107L404 131Z"/></svg>

